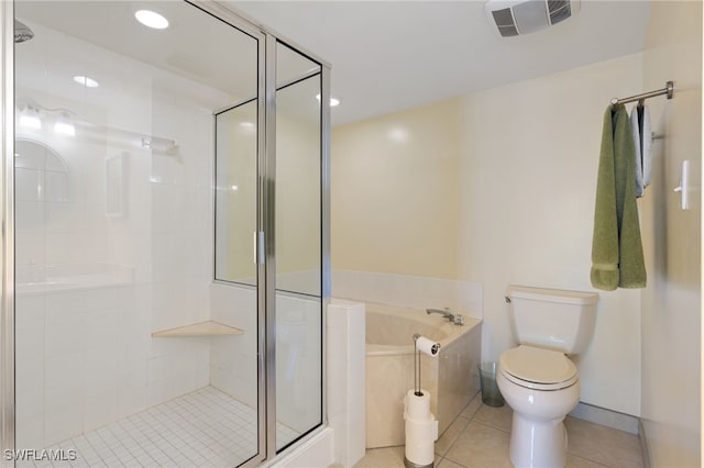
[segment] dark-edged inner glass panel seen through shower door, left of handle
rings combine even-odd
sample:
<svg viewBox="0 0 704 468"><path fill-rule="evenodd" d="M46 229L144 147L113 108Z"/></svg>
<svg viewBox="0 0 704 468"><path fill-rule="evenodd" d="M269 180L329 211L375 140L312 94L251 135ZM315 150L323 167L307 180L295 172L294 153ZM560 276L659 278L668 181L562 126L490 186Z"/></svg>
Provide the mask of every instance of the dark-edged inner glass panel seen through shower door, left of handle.
<svg viewBox="0 0 704 468"><path fill-rule="evenodd" d="M256 101L217 116L216 279L256 285Z"/></svg>

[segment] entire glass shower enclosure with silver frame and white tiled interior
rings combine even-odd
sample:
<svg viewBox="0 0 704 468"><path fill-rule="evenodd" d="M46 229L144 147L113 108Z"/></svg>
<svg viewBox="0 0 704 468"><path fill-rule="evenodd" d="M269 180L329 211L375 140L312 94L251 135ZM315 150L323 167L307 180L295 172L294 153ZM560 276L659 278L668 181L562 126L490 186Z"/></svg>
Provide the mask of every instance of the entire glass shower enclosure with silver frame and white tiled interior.
<svg viewBox="0 0 704 468"><path fill-rule="evenodd" d="M2 464L256 466L305 439L329 66L212 1L0 9Z"/></svg>

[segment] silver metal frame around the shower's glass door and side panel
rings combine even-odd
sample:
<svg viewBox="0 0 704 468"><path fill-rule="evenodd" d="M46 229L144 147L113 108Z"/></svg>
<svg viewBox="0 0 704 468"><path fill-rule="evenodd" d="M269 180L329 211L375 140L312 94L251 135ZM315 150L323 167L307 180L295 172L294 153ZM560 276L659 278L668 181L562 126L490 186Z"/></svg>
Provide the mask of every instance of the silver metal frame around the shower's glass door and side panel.
<svg viewBox="0 0 704 468"><path fill-rule="evenodd" d="M315 54L304 52L295 42L263 26L257 21L222 5L217 1L185 0L202 11L231 24L243 33L257 40L257 111L260 131L257 153L260 170L260 196L263 197L260 210L258 227L265 235L264 264L257 267L257 277L263 279L258 286L257 317L258 333L258 453L244 467L257 466L264 460L276 458L276 268L275 268L275 214L274 203L276 163L276 44L282 41L287 46L318 63L321 67L321 427L328 422L327 415L327 372L326 372L326 310L330 300L330 64ZM0 167L0 467L13 467L6 450L15 448L15 361L14 361L14 2L0 1L1 36L1 80L0 111L2 137L2 165ZM264 157L262 157L264 155ZM271 203L271 205L264 204ZM271 264L268 264L271 261ZM267 431L268 428L268 431ZM285 452L300 446L317 431L301 437ZM37 447L38 448L38 447Z"/></svg>

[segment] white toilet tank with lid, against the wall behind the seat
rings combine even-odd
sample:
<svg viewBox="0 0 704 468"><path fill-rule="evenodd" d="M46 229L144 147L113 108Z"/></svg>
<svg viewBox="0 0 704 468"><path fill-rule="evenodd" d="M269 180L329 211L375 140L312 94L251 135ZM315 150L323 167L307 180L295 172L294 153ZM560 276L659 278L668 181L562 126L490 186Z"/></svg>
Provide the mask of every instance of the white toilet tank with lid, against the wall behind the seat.
<svg viewBox="0 0 704 468"><path fill-rule="evenodd" d="M579 354L592 339L596 292L509 285L506 294L519 344Z"/></svg>

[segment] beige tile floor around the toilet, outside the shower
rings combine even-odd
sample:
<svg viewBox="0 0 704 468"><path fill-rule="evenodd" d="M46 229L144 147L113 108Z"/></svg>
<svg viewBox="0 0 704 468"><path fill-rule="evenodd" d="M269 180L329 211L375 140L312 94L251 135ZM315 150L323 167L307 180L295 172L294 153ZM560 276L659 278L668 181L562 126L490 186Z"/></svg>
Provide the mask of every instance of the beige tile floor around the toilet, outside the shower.
<svg viewBox="0 0 704 468"><path fill-rule="evenodd" d="M508 457L513 411L482 404L481 395L436 442L438 468L513 468ZM642 468L637 435L568 416L568 468ZM403 446L367 449L354 468L404 468Z"/></svg>

